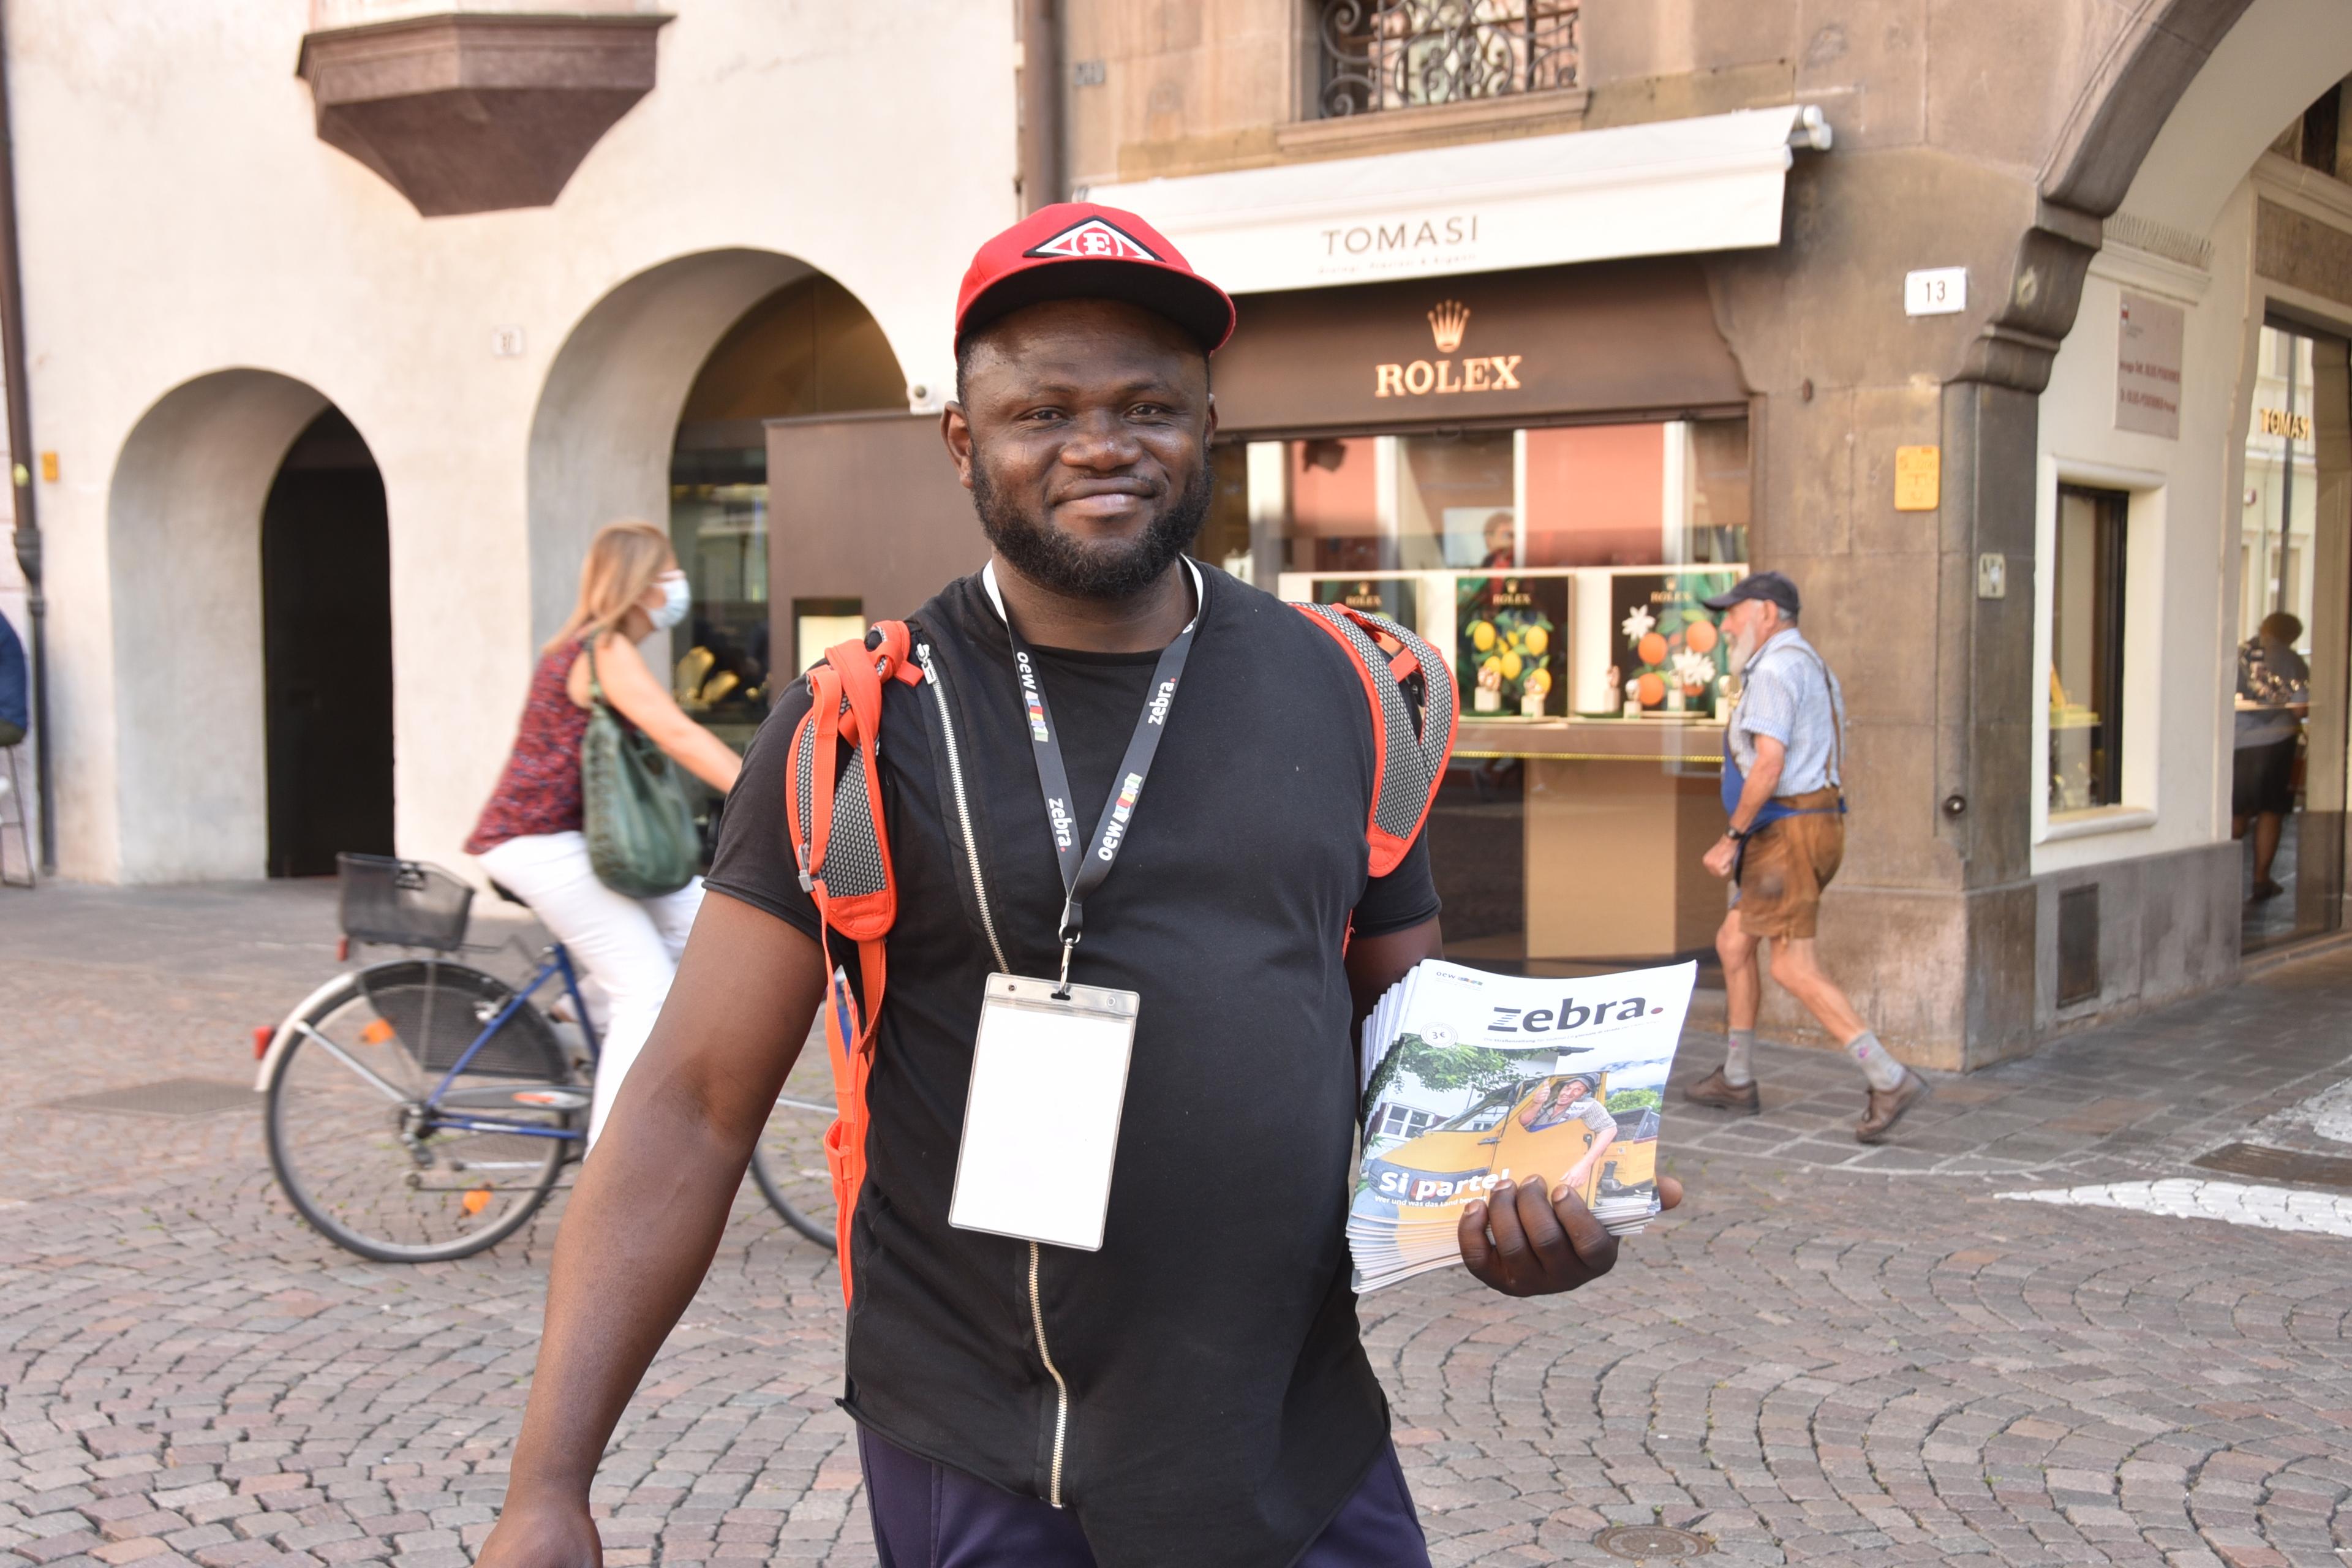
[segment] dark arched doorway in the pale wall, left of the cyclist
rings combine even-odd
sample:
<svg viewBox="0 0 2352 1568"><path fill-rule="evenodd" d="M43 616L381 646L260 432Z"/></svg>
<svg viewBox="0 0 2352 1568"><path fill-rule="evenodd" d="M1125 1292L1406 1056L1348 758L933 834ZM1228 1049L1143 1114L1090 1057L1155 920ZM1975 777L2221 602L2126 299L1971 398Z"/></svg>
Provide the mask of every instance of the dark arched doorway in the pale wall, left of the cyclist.
<svg viewBox="0 0 2352 1568"><path fill-rule="evenodd" d="M336 409L261 508L268 875L393 853L393 595L383 477Z"/></svg>

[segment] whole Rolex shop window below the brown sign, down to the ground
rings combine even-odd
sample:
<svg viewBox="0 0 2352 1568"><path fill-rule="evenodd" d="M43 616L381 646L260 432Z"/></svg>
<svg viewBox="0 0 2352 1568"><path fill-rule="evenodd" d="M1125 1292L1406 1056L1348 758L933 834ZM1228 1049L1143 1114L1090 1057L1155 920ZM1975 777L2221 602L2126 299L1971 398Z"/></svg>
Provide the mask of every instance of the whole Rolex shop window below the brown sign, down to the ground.
<svg viewBox="0 0 2352 1568"><path fill-rule="evenodd" d="M1748 505L1736 416L1251 444L1242 510L1279 592L1454 661L1430 818L1449 954L1543 973L1710 952L1722 884L1698 858L1733 670L1700 599L1743 576Z"/></svg>

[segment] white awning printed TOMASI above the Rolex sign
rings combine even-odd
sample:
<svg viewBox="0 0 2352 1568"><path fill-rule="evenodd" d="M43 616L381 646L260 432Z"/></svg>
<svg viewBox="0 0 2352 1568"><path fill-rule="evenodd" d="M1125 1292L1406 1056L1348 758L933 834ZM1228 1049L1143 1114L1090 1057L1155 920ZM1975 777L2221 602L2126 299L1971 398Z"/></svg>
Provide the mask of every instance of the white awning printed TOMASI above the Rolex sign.
<svg viewBox="0 0 2352 1568"><path fill-rule="evenodd" d="M1780 242L1816 106L1094 186L1230 294Z"/></svg>

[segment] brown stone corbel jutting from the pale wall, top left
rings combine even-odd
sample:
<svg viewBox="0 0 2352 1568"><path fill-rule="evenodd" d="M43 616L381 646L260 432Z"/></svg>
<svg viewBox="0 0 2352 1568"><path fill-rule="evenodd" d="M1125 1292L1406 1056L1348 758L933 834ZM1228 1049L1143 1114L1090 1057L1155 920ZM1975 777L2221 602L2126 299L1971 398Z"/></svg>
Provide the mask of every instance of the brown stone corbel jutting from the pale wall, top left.
<svg viewBox="0 0 2352 1568"><path fill-rule="evenodd" d="M428 219L548 207L654 87L661 14L407 16L310 33L318 136Z"/></svg>

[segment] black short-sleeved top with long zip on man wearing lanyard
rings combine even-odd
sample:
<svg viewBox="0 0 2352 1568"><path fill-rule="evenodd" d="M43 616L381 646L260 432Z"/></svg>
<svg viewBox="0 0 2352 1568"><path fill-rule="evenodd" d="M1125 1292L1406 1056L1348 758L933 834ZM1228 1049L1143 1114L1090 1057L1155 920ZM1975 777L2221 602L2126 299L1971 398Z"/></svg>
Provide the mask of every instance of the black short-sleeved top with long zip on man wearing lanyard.
<svg viewBox="0 0 2352 1568"><path fill-rule="evenodd" d="M1348 929L1437 914L1428 849L1371 879L1371 717L1296 609L1204 571L1200 635L1070 978L1141 994L1098 1253L953 1229L981 924L936 689L891 686L884 818L898 886L866 1185L851 1225L847 1408L894 1443L1051 1495L1105 1568L1282 1568L1388 1432L1357 1342L1345 1213L1355 1048ZM1061 870L1004 623L978 578L913 618L931 649L1004 957L1058 966ZM1033 649L1091 835L1157 654ZM746 757L708 884L816 933L783 818L795 684ZM856 973L854 947L833 940ZM1035 1312L1030 1279L1035 1269Z"/></svg>

